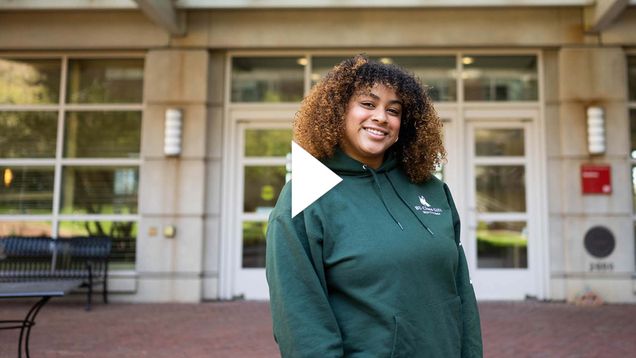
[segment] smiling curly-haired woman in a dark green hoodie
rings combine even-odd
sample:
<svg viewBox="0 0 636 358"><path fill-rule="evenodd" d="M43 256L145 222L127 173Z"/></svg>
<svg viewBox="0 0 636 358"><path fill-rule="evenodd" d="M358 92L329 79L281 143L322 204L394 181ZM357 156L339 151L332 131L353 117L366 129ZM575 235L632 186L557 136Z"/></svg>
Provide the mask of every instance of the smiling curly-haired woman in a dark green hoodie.
<svg viewBox="0 0 636 358"><path fill-rule="evenodd" d="M442 124L418 81L356 56L305 98L295 141L343 178L267 231L283 357L481 357L479 313L448 187Z"/></svg>

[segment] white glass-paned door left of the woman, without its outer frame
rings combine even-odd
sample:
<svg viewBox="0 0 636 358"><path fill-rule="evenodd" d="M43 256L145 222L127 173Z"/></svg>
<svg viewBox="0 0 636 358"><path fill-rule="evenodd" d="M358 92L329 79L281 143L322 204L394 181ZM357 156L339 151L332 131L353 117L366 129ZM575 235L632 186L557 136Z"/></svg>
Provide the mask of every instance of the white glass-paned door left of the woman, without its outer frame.
<svg viewBox="0 0 636 358"><path fill-rule="evenodd" d="M268 299L265 279L267 220L283 185L290 178L292 130L289 122L239 124L237 178L238 263L234 294Z"/></svg>

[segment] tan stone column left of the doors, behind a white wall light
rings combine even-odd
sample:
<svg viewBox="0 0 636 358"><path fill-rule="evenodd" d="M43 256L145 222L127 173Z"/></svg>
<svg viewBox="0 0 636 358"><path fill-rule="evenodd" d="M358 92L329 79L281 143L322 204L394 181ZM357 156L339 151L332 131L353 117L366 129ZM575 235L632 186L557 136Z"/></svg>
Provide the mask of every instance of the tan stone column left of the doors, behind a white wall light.
<svg viewBox="0 0 636 358"><path fill-rule="evenodd" d="M208 171L210 56L206 50L148 52L140 175L137 295L133 300L201 300ZM167 108L183 111L182 152L163 154ZM174 226L176 236L164 235Z"/></svg>

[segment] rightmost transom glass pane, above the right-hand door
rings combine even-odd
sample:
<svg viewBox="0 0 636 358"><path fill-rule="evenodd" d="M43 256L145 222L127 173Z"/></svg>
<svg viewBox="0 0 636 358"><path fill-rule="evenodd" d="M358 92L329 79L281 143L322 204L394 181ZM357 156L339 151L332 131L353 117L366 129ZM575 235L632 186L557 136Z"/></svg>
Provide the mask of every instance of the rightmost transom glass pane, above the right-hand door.
<svg viewBox="0 0 636 358"><path fill-rule="evenodd" d="M473 56L462 58L467 101L536 101L536 56Z"/></svg>

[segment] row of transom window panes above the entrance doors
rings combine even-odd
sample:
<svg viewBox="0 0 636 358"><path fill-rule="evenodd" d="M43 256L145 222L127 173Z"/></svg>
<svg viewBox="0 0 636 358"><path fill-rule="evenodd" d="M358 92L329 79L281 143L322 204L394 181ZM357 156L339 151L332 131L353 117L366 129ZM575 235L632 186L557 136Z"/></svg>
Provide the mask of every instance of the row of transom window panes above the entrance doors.
<svg viewBox="0 0 636 358"><path fill-rule="evenodd" d="M333 66L351 54L232 57L232 103L298 103ZM535 55L370 55L415 74L436 102L531 102L539 99ZM307 70L306 70L307 69ZM458 78L458 74L461 74Z"/></svg>

